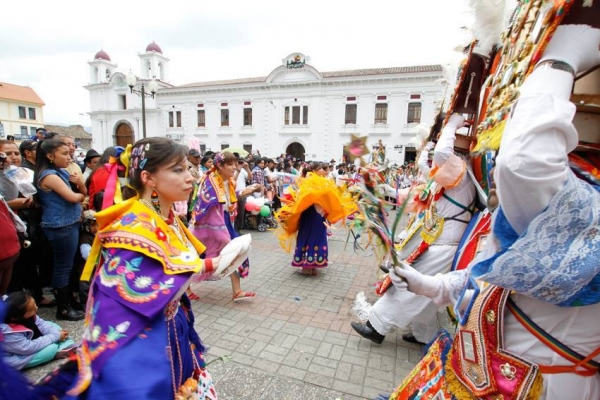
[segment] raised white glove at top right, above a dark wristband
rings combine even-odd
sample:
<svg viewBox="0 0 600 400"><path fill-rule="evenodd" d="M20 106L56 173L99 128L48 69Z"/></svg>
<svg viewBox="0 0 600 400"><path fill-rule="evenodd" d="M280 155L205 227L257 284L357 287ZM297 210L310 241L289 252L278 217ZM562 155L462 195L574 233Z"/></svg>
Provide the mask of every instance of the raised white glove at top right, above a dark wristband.
<svg viewBox="0 0 600 400"><path fill-rule="evenodd" d="M542 59L562 61L575 70L575 74L600 64L600 29L589 25L560 25Z"/></svg>

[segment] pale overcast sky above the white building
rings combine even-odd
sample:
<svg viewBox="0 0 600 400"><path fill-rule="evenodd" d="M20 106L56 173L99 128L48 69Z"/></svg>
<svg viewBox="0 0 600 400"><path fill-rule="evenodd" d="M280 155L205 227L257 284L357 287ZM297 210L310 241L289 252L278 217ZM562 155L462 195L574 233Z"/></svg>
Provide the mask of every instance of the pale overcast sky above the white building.
<svg viewBox="0 0 600 400"><path fill-rule="evenodd" d="M89 124L88 61L139 73L153 40L179 85L266 76L293 52L320 71L455 62L467 0L4 1L0 81L31 86L46 123Z"/></svg>

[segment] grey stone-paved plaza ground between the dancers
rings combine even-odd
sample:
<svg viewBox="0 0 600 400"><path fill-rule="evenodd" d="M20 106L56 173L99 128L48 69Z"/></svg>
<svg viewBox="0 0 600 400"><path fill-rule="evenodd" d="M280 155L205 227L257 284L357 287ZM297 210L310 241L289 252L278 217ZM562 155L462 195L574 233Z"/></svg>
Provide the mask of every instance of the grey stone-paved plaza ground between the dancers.
<svg viewBox="0 0 600 400"><path fill-rule="evenodd" d="M419 361L421 346L402 341L402 332L377 345L350 327L356 294L376 300L375 258L354 254L338 228L329 243L331 265L316 277L300 275L272 231L247 232L253 244L242 287L257 297L234 303L229 280L193 286L200 296L193 302L196 328L209 348L207 361L214 360L209 371L219 398L373 399L391 392ZM52 319L48 310L40 315ZM81 337L81 323L62 325ZM28 374L35 379L52 367Z"/></svg>

